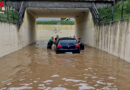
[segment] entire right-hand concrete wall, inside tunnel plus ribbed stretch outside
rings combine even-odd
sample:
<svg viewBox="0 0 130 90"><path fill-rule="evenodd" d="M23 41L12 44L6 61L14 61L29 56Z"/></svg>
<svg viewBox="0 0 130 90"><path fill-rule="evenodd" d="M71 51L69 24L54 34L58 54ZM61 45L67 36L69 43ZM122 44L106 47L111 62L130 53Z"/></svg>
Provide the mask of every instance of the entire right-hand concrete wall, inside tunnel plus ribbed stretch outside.
<svg viewBox="0 0 130 90"><path fill-rule="evenodd" d="M130 62L130 19L95 26L90 12L76 19L76 35L91 47L96 47Z"/></svg>

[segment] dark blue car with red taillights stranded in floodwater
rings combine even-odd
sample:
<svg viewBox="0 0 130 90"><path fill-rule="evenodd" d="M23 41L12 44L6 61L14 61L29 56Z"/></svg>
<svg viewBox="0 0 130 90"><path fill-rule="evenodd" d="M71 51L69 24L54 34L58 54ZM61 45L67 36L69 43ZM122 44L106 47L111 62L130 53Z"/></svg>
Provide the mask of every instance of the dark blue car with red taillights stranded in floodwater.
<svg viewBox="0 0 130 90"><path fill-rule="evenodd" d="M80 53L80 44L75 38L60 38L56 44L56 53Z"/></svg>

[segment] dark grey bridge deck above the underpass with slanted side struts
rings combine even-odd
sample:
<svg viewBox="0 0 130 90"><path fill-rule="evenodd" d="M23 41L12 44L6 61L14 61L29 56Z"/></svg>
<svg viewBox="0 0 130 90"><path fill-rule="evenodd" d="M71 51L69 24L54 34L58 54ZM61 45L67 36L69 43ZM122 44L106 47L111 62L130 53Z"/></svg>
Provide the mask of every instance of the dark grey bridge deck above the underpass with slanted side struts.
<svg viewBox="0 0 130 90"><path fill-rule="evenodd" d="M111 6L116 0L7 0L7 5L14 7L19 12L18 25L23 22L27 8L68 8L90 9L94 20L98 18L97 8ZM97 22L97 20L95 20Z"/></svg>

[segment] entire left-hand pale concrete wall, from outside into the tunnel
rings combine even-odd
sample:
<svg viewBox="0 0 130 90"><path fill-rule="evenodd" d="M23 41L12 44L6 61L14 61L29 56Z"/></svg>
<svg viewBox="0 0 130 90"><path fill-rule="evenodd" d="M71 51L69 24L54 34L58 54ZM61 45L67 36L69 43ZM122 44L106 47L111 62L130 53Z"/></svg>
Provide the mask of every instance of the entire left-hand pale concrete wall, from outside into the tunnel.
<svg viewBox="0 0 130 90"><path fill-rule="evenodd" d="M0 57L19 50L34 41L35 18L27 11L19 30L14 24L0 23Z"/></svg>

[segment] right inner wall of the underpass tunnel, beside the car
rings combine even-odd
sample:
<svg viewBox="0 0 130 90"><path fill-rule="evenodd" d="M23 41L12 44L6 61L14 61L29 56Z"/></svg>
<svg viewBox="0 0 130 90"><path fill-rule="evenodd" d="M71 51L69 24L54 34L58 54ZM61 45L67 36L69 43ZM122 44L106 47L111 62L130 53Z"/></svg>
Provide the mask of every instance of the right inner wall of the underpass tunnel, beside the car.
<svg viewBox="0 0 130 90"><path fill-rule="evenodd" d="M95 47L95 27L91 13L82 13L76 19L76 35L88 45Z"/></svg>

